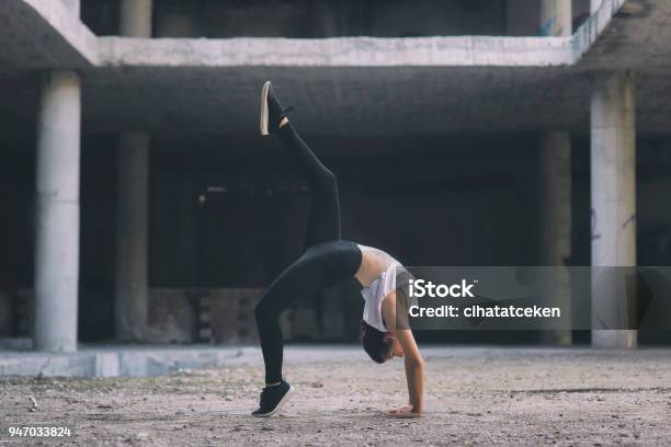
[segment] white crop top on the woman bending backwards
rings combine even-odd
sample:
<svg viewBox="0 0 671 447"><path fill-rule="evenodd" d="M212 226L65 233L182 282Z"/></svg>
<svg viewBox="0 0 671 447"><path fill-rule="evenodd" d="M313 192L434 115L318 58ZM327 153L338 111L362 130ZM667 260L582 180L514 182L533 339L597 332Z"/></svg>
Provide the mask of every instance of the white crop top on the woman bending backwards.
<svg viewBox="0 0 671 447"><path fill-rule="evenodd" d="M382 316L382 302L390 291L396 290L396 267L402 267L402 265L400 262L396 261L382 250L365 245L359 245L359 248L362 251L374 250L383 255L386 255L385 263L387 264L387 267L380 272L375 279L373 279L373 283L371 283L368 287L364 287L361 290L361 295L364 299L363 320L380 332L388 332Z"/></svg>

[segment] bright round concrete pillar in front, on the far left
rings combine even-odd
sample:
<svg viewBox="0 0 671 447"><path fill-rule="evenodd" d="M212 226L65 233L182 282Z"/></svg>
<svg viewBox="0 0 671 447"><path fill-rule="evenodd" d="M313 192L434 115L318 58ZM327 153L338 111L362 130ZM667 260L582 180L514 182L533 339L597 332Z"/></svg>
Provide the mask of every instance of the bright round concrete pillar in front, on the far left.
<svg viewBox="0 0 671 447"><path fill-rule="evenodd" d="M37 351L77 351L81 87L44 74L37 116L35 329Z"/></svg>

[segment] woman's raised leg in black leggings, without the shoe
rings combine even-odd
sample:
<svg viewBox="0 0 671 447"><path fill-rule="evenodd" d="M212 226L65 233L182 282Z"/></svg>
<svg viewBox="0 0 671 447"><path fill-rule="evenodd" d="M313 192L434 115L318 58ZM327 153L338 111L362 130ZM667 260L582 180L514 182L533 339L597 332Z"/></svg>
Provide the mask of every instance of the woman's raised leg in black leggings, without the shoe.
<svg viewBox="0 0 671 447"><path fill-rule="evenodd" d="M291 123L280 127L277 136L312 190L305 248L340 239L338 179L319 161Z"/></svg>

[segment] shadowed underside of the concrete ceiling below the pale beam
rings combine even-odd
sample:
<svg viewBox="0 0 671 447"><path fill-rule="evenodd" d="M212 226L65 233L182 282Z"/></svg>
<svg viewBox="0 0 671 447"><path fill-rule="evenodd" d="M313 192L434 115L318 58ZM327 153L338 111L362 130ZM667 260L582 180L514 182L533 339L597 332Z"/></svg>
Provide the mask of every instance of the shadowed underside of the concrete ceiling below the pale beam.
<svg viewBox="0 0 671 447"><path fill-rule="evenodd" d="M295 105L292 119L318 135L533 130L589 118L589 77L567 68L125 68L84 79L93 133L257 133L266 79Z"/></svg>

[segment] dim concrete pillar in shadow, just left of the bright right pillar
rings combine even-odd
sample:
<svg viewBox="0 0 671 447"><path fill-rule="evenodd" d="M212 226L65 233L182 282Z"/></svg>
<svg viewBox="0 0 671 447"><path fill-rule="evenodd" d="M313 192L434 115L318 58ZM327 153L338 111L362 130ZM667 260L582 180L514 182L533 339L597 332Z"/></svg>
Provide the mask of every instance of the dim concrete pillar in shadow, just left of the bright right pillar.
<svg viewBox="0 0 671 447"><path fill-rule="evenodd" d="M568 131L546 131L541 136L541 247L542 265L564 266L571 255L571 138ZM571 344L571 288L567 270L551 273L556 288L548 290L549 302L562 312L567 330L544 333L548 344Z"/></svg>

